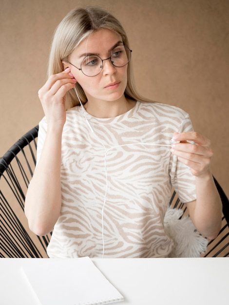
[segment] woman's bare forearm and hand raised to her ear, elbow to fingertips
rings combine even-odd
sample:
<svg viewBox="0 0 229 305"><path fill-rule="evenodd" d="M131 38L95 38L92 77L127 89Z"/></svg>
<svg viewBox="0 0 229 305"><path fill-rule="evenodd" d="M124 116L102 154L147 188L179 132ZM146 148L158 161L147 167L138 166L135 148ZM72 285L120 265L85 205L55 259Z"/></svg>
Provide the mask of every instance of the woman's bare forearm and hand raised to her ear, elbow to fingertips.
<svg viewBox="0 0 229 305"><path fill-rule="evenodd" d="M70 69L52 75L38 95L47 119L47 132L36 171L25 198L30 229L39 236L52 231L61 209L61 137L66 121L65 96L76 79Z"/></svg>

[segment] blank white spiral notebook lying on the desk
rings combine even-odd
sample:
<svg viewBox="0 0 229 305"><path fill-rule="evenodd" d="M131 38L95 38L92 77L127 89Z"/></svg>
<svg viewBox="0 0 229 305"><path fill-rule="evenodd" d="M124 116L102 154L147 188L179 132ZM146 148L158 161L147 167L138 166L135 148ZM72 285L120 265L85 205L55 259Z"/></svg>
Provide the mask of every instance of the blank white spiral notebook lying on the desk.
<svg viewBox="0 0 229 305"><path fill-rule="evenodd" d="M21 272L38 305L99 305L123 301L123 296L89 257L36 260Z"/></svg>

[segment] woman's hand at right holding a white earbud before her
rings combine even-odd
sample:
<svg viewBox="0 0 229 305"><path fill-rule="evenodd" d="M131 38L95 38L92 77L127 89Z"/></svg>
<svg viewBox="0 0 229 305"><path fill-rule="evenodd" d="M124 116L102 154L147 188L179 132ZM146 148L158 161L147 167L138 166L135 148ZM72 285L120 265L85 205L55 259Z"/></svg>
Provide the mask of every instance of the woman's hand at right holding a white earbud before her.
<svg viewBox="0 0 229 305"><path fill-rule="evenodd" d="M194 176L210 173L213 152L209 139L196 132L174 133L172 138L180 143L172 144L171 152L178 157L179 161L191 168Z"/></svg>

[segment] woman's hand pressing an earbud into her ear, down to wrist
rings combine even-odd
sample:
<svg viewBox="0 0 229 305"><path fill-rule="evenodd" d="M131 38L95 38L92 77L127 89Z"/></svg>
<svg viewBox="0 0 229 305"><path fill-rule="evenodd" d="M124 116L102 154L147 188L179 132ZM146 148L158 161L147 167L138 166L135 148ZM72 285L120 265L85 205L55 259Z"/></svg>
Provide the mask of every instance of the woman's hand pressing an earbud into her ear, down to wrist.
<svg viewBox="0 0 229 305"><path fill-rule="evenodd" d="M38 91L48 126L63 127L66 121L65 95L74 88L76 79L70 68L51 75L44 86Z"/></svg>

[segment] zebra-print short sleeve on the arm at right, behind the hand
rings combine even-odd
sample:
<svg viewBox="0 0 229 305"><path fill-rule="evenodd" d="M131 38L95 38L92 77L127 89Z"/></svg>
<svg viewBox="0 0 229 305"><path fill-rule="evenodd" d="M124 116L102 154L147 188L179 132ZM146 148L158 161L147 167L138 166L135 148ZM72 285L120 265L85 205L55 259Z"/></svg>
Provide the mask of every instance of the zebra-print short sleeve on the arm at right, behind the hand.
<svg viewBox="0 0 229 305"><path fill-rule="evenodd" d="M193 127L189 114L186 114L178 132L190 131L193 131ZM196 199L195 176L192 175L191 169L180 162L174 154L171 154L170 176L172 187L183 203Z"/></svg>

